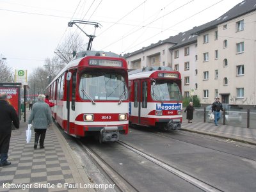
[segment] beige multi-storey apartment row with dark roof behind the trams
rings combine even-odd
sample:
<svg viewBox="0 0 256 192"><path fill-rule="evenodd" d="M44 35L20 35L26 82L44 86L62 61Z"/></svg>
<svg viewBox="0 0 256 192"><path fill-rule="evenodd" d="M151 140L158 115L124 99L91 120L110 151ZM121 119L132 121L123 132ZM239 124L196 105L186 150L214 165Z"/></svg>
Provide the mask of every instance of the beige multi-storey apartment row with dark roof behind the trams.
<svg viewBox="0 0 256 192"><path fill-rule="evenodd" d="M203 106L256 106L256 1L245 0L202 26L128 53L129 68L166 66L182 74L182 95L195 89Z"/></svg>

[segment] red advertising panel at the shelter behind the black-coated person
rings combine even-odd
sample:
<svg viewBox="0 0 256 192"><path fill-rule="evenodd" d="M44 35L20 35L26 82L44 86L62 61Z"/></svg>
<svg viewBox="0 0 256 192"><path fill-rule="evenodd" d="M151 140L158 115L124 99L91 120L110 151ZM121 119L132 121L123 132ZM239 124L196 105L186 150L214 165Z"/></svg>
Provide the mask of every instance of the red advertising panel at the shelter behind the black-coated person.
<svg viewBox="0 0 256 192"><path fill-rule="evenodd" d="M0 93L7 93L7 102L13 106L19 115L19 88L0 88Z"/></svg>

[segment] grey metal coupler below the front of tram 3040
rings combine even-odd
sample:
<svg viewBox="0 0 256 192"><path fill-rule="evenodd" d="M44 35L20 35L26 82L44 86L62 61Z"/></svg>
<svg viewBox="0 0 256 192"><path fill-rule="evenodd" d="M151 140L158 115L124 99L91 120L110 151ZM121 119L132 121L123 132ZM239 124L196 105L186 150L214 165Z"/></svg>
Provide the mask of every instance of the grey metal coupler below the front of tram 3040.
<svg viewBox="0 0 256 192"><path fill-rule="evenodd" d="M118 127L104 127L100 130L100 138L102 142L119 140Z"/></svg>

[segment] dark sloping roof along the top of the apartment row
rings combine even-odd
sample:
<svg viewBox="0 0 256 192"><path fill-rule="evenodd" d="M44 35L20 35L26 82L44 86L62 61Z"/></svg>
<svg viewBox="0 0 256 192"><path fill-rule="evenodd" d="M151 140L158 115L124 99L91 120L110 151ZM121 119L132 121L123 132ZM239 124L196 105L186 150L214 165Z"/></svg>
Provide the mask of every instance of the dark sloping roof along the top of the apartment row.
<svg viewBox="0 0 256 192"><path fill-rule="evenodd" d="M244 0L241 3L234 6L234 8L230 9L228 12L221 15L218 19L214 19L210 22L202 24L201 26L196 26L193 29L189 29L184 33L179 33L175 36L170 36L166 40L159 41L156 44L151 44L148 47L142 47L137 51L124 54L124 58L129 58L130 56L134 56L140 52L147 51L148 49L152 49L161 44L173 44L169 49L177 49L179 47L184 47L189 44L193 44L197 42L197 34L203 33L204 31L208 31L210 29L216 28L218 24L223 22L227 22L228 20L235 19L236 17L240 17L241 15L245 15L247 13L253 12L256 10L256 1L255 0Z"/></svg>

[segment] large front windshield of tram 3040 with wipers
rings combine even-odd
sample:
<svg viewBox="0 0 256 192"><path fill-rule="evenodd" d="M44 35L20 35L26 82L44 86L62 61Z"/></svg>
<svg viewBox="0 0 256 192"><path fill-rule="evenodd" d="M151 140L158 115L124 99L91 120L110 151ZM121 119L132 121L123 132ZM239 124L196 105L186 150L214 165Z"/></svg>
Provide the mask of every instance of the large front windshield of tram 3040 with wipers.
<svg viewBox="0 0 256 192"><path fill-rule="evenodd" d="M79 94L84 100L125 100L127 86L120 74L84 73L79 83Z"/></svg>

